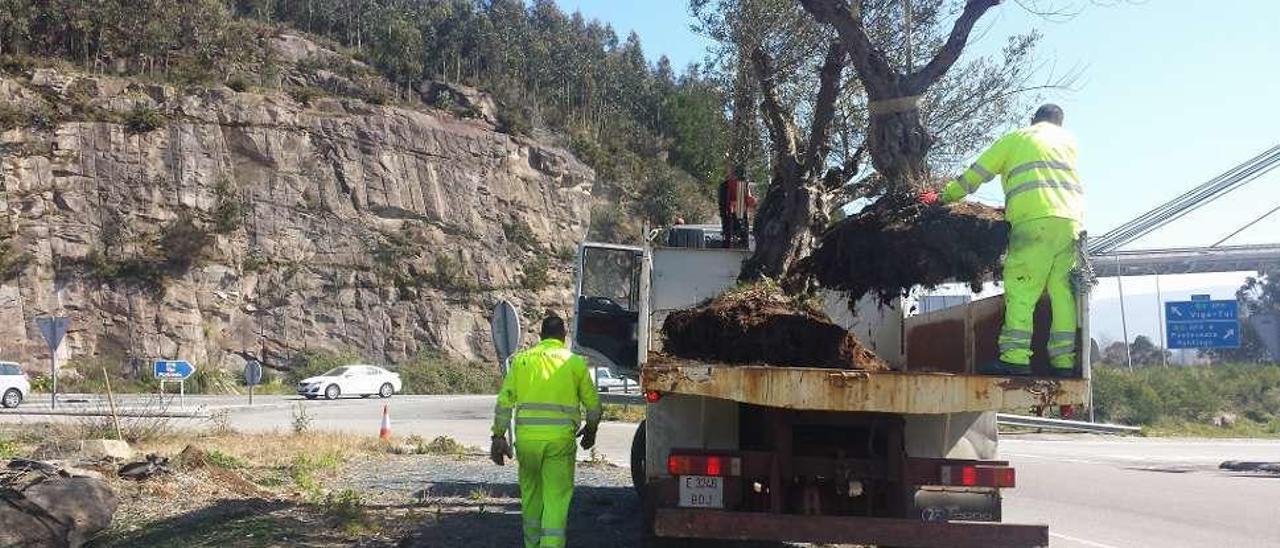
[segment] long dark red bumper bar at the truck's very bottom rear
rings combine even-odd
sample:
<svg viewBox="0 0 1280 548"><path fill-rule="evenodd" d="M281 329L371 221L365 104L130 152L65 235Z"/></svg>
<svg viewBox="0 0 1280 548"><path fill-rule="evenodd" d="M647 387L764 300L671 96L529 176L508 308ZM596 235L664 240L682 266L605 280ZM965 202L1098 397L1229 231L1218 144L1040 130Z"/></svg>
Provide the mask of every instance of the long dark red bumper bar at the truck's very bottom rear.
<svg viewBox="0 0 1280 548"><path fill-rule="evenodd" d="M1047 525L929 522L890 517L801 516L723 510L657 508L658 536L893 547L992 548L1048 545Z"/></svg>

